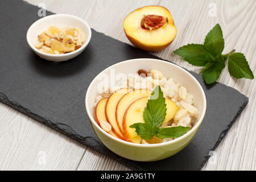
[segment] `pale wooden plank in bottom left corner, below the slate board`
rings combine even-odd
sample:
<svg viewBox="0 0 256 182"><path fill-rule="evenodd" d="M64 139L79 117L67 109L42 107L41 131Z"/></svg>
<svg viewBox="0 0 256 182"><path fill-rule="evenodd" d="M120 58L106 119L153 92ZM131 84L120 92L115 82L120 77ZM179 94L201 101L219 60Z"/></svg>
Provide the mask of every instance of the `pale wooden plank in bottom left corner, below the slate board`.
<svg viewBox="0 0 256 182"><path fill-rule="evenodd" d="M0 104L1 170L75 170L85 147Z"/></svg>

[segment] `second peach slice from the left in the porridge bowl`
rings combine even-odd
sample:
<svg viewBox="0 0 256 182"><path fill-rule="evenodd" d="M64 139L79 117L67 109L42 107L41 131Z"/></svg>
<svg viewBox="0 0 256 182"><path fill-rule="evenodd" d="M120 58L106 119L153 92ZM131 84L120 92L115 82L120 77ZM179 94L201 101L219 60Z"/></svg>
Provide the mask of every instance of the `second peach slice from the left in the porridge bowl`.
<svg viewBox="0 0 256 182"><path fill-rule="evenodd" d="M115 107L117 106L118 101L120 98L123 97L127 92L130 92L131 89L123 88L115 91L111 96L108 98L108 101L106 101L105 106L105 116L106 121L110 123L112 126L112 130L119 138L123 138L123 133L119 129L119 126L117 125L117 121L115 120Z"/></svg>

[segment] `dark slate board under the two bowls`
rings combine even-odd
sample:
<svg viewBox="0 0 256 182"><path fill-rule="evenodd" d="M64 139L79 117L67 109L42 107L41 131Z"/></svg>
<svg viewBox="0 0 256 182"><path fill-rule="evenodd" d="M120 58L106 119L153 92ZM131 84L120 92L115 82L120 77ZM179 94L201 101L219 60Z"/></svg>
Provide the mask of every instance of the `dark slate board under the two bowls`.
<svg viewBox="0 0 256 182"><path fill-rule="evenodd" d="M219 83L207 86L200 75L191 72L207 97L205 119L192 142L178 154L158 162L123 159L94 134L85 111L86 88L98 73L119 61L159 57L92 30L89 46L75 59L63 63L40 59L26 42L28 27L39 19L38 10L22 1L0 1L1 32L5 35L0 43L0 101L127 167L201 169L209 151L218 146L248 102L237 90Z"/></svg>

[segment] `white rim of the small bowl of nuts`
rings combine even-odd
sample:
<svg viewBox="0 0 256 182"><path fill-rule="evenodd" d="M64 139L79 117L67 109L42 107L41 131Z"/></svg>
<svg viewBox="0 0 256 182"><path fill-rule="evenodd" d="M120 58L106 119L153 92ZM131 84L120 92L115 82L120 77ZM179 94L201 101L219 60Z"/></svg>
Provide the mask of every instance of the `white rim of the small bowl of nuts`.
<svg viewBox="0 0 256 182"><path fill-rule="evenodd" d="M72 51L72 52L68 52L68 53L64 53L64 54L61 54L61 55L53 55L51 53L45 53L45 52L41 52L39 51L39 49L35 48L34 45L32 45L32 43L30 41L28 41L28 37L30 36L30 31L32 30L33 27L36 26L37 23L40 23L42 22L43 20L45 19L50 19L50 18L54 18L56 16L69 16L71 18L75 18L77 20L80 20L81 23L84 23L85 24L85 27L87 28L88 30L88 36L87 36L87 40L84 44L82 44L81 48L79 49L76 49L75 51ZM43 32L43 30L42 30ZM69 55L73 55L77 52L80 52L82 51L90 42L90 39L92 38L92 30L90 29L88 23L85 22L85 20L75 16L75 15L69 15L69 14L53 14L53 15L48 15L48 16L44 16L43 18L40 18L38 20L36 20L34 23L31 24L31 26L28 28L27 30L27 35L26 35L26 38L27 38L27 43L28 45L33 49L33 51L39 53L39 54L42 54L42 55L45 55L45 56L52 56L52 57L66 57L66 56L69 56Z"/></svg>

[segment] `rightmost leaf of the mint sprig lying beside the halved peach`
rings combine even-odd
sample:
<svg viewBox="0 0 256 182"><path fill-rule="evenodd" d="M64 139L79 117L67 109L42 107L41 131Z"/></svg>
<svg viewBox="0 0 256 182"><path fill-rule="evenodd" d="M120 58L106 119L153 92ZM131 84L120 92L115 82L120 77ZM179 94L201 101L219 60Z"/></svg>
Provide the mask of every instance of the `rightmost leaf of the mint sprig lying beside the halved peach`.
<svg viewBox="0 0 256 182"><path fill-rule="evenodd" d="M253 72L242 53L233 53L229 56L229 73L234 78L249 78L253 79Z"/></svg>

